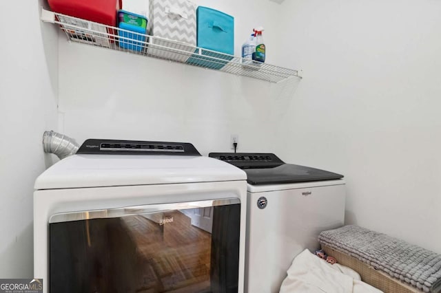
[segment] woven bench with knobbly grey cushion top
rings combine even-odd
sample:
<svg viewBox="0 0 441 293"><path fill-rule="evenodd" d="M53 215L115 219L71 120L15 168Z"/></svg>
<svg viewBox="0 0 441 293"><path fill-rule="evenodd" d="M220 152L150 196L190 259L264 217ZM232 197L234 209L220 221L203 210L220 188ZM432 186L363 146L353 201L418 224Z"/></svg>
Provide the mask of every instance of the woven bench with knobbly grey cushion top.
<svg viewBox="0 0 441 293"><path fill-rule="evenodd" d="M321 232L325 252L384 292L441 292L441 254L358 226Z"/></svg>

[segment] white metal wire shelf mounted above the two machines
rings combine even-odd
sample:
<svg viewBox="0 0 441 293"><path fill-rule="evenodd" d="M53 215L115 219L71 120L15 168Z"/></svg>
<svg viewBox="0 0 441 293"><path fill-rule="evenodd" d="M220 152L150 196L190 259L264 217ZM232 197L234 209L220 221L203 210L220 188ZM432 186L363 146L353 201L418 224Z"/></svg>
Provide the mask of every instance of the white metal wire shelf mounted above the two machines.
<svg viewBox="0 0 441 293"><path fill-rule="evenodd" d="M298 71L203 49L187 43L139 34L101 23L77 19L41 8L41 21L60 25L70 41L110 50L165 59L220 72L278 83L298 75Z"/></svg>

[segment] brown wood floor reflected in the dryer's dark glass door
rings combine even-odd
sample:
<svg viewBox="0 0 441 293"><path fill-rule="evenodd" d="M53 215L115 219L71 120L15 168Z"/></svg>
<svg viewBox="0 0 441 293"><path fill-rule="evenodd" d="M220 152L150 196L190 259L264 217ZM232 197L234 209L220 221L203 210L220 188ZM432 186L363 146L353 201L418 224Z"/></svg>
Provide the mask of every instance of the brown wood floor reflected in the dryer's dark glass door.
<svg viewBox="0 0 441 293"><path fill-rule="evenodd" d="M134 251L127 257L136 263L136 292L209 292L211 235L178 211L160 217L174 220L160 225L141 215L121 218L124 242Z"/></svg>

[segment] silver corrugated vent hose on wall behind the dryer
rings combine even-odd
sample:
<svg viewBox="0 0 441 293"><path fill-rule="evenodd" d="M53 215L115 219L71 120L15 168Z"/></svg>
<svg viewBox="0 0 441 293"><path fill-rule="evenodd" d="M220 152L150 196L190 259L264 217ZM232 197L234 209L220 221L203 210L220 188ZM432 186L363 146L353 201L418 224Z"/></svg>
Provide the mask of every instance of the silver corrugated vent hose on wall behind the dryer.
<svg viewBox="0 0 441 293"><path fill-rule="evenodd" d="M73 138L54 131L44 131L43 149L45 153L53 153L58 158L64 159L74 155L79 149L79 144Z"/></svg>

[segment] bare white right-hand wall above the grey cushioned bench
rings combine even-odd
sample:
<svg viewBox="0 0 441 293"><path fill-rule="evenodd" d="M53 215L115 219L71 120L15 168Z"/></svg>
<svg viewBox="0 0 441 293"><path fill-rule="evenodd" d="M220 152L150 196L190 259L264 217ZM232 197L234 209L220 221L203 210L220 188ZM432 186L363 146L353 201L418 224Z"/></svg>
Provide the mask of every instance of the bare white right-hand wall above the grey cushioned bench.
<svg viewBox="0 0 441 293"><path fill-rule="evenodd" d="M305 78L276 151L345 174L348 223L441 252L440 1L280 8L276 56Z"/></svg>

